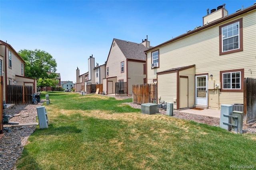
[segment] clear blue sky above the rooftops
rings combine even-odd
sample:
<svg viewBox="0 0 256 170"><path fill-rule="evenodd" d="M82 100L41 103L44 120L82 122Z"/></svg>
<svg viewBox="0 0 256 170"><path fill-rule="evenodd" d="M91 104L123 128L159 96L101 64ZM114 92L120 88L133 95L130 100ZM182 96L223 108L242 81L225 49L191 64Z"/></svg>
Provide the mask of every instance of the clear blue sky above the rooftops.
<svg viewBox="0 0 256 170"><path fill-rule="evenodd" d="M226 4L228 14L256 0L0 0L0 40L17 52L40 49L57 62L62 81L88 72L93 54L108 58L113 38L157 46L202 26L207 9Z"/></svg>

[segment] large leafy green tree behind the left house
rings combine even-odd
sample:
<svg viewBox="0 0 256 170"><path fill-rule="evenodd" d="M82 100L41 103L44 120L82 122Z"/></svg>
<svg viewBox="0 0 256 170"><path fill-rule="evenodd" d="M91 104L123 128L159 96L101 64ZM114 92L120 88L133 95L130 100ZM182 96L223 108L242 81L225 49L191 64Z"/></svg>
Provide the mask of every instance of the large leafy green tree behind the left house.
<svg viewBox="0 0 256 170"><path fill-rule="evenodd" d="M48 52L42 50L20 50L20 57L25 60L25 76L29 78L55 79L57 78L56 60ZM48 72L51 72L48 74Z"/></svg>

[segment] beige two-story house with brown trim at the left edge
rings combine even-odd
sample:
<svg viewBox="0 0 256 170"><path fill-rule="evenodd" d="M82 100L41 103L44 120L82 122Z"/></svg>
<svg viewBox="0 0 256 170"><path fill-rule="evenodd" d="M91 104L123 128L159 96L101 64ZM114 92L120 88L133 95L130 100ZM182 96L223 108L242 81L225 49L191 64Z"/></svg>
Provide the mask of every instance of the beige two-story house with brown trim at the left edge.
<svg viewBox="0 0 256 170"><path fill-rule="evenodd" d="M10 44L0 40L0 76L3 77L3 100L7 99L7 85L32 86L37 92L36 79L25 77L25 61Z"/></svg>

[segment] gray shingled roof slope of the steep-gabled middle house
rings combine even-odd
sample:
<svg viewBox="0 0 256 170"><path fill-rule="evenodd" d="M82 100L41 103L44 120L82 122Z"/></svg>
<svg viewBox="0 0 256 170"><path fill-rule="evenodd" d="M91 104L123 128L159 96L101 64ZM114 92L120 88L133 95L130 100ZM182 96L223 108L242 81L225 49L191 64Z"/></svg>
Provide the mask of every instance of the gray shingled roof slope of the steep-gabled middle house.
<svg viewBox="0 0 256 170"><path fill-rule="evenodd" d="M148 50L149 48L146 48L143 44L119 40L116 38L114 38L113 41L116 42L126 58L146 61L144 51Z"/></svg>

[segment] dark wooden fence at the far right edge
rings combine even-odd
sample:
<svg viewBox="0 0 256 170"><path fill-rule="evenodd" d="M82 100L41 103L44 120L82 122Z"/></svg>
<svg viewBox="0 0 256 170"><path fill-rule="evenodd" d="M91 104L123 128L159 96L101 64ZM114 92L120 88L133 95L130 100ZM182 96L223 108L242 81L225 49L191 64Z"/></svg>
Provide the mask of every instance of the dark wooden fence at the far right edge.
<svg viewBox="0 0 256 170"><path fill-rule="evenodd" d="M244 114L246 122L256 119L256 78L244 78Z"/></svg>

